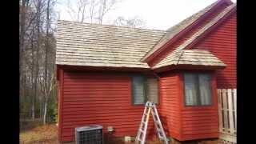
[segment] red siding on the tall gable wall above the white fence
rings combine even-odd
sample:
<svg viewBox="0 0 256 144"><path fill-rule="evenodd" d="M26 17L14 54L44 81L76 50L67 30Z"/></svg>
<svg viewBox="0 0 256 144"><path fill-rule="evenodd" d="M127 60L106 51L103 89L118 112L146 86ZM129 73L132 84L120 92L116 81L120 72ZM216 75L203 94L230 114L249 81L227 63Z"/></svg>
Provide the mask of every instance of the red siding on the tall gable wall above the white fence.
<svg viewBox="0 0 256 144"><path fill-rule="evenodd" d="M218 89L237 87L237 17L236 13L226 18L224 22L194 47L210 50L227 66L217 73Z"/></svg>

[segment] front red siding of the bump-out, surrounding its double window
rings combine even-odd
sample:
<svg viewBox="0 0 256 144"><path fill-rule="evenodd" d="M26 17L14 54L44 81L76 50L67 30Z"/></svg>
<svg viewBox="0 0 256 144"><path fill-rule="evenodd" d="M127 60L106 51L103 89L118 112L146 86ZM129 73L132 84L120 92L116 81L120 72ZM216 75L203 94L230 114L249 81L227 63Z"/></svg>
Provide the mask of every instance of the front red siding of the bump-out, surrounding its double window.
<svg viewBox="0 0 256 144"><path fill-rule="evenodd" d="M216 78L212 75L212 106L185 106L183 74L179 74L181 98L182 141L218 138L218 101Z"/></svg>

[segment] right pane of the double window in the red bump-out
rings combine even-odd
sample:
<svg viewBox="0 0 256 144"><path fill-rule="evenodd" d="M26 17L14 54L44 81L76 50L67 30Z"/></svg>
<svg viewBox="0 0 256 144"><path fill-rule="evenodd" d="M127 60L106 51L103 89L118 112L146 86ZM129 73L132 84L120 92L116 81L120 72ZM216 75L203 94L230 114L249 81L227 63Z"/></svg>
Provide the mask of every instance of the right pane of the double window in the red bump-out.
<svg viewBox="0 0 256 144"><path fill-rule="evenodd" d="M211 104L210 75L199 74L200 100L201 105Z"/></svg>

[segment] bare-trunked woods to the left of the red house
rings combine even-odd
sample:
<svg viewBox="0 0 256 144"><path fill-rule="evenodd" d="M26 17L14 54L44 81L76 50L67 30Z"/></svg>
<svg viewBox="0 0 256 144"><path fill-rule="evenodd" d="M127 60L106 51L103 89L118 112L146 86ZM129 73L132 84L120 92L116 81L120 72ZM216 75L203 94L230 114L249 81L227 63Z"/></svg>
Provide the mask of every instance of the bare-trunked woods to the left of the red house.
<svg viewBox="0 0 256 144"><path fill-rule="evenodd" d="M21 0L20 119L56 120L55 0Z"/></svg>

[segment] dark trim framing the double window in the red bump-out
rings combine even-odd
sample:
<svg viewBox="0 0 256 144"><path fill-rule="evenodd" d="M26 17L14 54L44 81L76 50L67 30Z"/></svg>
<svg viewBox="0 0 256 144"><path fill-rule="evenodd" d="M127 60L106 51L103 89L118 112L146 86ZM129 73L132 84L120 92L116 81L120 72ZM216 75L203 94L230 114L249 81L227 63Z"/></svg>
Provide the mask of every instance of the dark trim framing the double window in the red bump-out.
<svg viewBox="0 0 256 144"><path fill-rule="evenodd" d="M197 75L197 85L196 88L198 90L198 95L197 95L197 98L198 98L198 102L200 102L200 105L186 105L186 87L185 87L185 74L196 74ZM209 74L210 76L210 105L202 105L201 103L201 100L200 100L200 86L199 86L199 74ZM214 94L213 94L213 85L212 85L212 81L213 81L213 76L212 74L210 73L207 73L207 72L185 72L182 74L182 79L183 79L183 104L184 104L184 107L209 107L209 106L214 106Z"/></svg>

